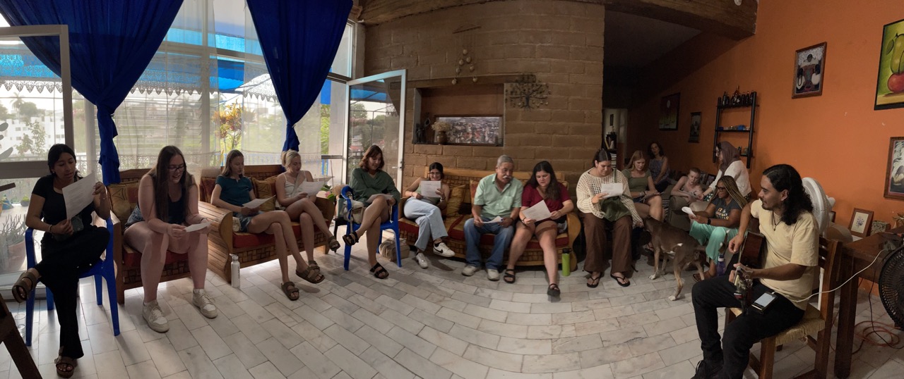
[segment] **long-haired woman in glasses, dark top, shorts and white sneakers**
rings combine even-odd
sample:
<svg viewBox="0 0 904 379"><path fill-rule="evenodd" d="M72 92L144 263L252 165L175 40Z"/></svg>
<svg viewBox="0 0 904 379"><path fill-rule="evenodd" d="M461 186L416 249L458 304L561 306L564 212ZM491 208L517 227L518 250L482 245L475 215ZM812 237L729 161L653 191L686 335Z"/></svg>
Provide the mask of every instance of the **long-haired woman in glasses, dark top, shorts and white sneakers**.
<svg viewBox="0 0 904 379"><path fill-rule="evenodd" d="M189 231L186 226L193 226ZM200 228L198 228L200 227ZM207 273L207 231L210 223L198 214L198 186L185 170L182 151L165 146L155 166L138 184L138 206L126 221L126 243L141 253L141 284L145 289L142 316L158 333L169 330L157 304L157 284L164 271L166 251L188 254L194 291L192 304L208 319L217 317L217 307L204 291Z"/></svg>

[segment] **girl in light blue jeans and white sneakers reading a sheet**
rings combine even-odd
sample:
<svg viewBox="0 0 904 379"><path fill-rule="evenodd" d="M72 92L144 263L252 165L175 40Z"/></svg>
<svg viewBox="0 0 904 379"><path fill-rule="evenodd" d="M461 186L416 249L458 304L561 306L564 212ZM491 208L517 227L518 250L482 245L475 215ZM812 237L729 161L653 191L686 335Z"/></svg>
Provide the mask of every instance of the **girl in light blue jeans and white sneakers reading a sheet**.
<svg viewBox="0 0 904 379"><path fill-rule="evenodd" d="M424 251L427 250L430 236L433 236L433 253L445 257L455 256L455 252L443 242L448 236L446 225L443 223L443 210L446 210L451 189L442 181L441 163L430 163L429 170L427 178L415 179L405 189L405 196L410 196L410 199L405 201L403 209L405 217L418 223L418 241L414 243L418 248L418 254L414 255L414 260L418 262L420 268L428 267Z"/></svg>

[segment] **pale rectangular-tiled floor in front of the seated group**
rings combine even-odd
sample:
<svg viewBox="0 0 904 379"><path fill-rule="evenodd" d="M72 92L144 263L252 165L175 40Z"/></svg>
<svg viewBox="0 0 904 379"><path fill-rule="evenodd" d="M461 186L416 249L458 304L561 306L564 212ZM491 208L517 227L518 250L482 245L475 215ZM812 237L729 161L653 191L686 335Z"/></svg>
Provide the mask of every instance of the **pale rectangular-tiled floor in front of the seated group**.
<svg viewBox="0 0 904 379"><path fill-rule="evenodd" d="M86 356L76 377L85 378L689 378L701 358L690 304L691 273L680 300L671 274L650 281L652 268L622 288L608 276L590 290L583 273L560 281L560 301L546 296L544 273L518 273L517 284L467 278L463 263L430 257L399 269L382 261L388 280L367 272L363 244L355 246L351 272L341 256L316 254L327 280L299 284L301 299L278 288L276 261L242 270L241 289L208 273L207 290L220 309L204 319L190 304L188 279L167 282L160 304L170 319L165 334L141 318L140 290L127 291L120 307L121 335L113 337L93 284L82 282L80 334ZM860 319L869 319L861 296ZM7 303L24 323L24 305ZM55 315L43 302L36 317L32 356L44 377L56 377ZM890 319L880 301L873 316ZM24 330L24 326L20 325ZM813 352L803 342L777 353L776 377L809 369ZM757 348L757 347L755 347ZM854 356L852 378L900 377L904 350L865 346ZM748 373L748 376L750 373ZM0 379L19 377L0 349Z"/></svg>

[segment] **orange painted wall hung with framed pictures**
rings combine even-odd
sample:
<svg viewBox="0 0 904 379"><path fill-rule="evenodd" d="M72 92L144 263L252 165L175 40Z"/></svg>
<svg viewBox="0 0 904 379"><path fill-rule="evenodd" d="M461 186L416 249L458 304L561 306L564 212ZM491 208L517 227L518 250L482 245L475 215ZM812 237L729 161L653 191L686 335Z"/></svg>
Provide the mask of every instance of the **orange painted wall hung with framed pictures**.
<svg viewBox="0 0 904 379"><path fill-rule="evenodd" d="M904 108L874 111L873 102L882 25L901 19L899 0L760 2L756 35L740 42L699 35L646 70L645 100L629 114L629 148L657 141L673 167L713 172L717 97L737 87L756 90L755 191L763 170L789 163L836 199L836 223L847 226L853 208L891 222L893 211L904 212L904 201L882 193L889 138L904 135ZM795 51L820 42L827 42L823 95L792 99ZM678 130L659 131L660 98L675 92L681 93ZM691 112L698 111L700 143L688 143ZM749 124L749 113L729 112L723 125Z"/></svg>

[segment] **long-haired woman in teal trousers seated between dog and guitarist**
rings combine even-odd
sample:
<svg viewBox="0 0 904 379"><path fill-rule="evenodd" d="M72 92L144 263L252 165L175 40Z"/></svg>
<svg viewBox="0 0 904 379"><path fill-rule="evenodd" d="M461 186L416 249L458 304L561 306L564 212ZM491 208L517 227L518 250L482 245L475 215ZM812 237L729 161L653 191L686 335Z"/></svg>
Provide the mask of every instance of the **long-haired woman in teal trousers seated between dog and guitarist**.
<svg viewBox="0 0 904 379"><path fill-rule="evenodd" d="M706 244L706 255L710 257L710 270L703 273L705 278L716 276L716 262L720 254L724 254L728 241L738 235L740 212L747 205L747 199L740 194L734 178L723 176L716 182L716 196L712 198L706 210L694 212L691 216L691 236L701 244ZM730 257L726 257L728 263Z"/></svg>

